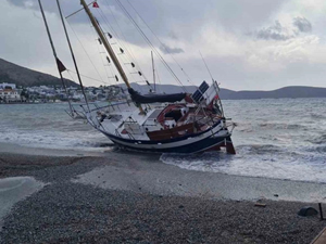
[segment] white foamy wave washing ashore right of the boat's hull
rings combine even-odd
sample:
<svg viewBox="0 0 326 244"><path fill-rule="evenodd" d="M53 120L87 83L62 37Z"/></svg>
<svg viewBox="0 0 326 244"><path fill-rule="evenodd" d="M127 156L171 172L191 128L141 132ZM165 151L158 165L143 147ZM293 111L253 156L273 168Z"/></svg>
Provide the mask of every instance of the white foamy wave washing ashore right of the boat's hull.
<svg viewBox="0 0 326 244"><path fill-rule="evenodd" d="M326 157L323 154L266 151L258 154L251 149L243 146L237 155L224 152L199 156L163 154L160 159L189 170L326 183Z"/></svg>

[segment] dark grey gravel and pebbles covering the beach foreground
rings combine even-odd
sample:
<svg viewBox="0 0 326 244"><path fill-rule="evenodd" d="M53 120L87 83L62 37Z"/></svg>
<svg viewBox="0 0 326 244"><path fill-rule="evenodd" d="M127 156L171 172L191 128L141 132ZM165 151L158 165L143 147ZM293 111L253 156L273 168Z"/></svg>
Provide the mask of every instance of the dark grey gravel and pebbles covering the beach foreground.
<svg viewBox="0 0 326 244"><path fill-rule="evenodd" d="M72 182L109 159L1 154L2 178L33 176L48 184L15 204L4 218L0 243L310 243L325 227L317 216L297 215L304 203L263 200L266 207L256 207L250 201Z"/></svg>

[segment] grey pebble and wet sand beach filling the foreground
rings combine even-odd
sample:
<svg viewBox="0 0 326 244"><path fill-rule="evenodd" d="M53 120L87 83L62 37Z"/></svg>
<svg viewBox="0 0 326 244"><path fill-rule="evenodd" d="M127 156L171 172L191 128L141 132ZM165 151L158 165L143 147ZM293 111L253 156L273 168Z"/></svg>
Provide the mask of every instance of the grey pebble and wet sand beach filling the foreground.
<svg viewBox="0 0 326 244"><path fill-rule="evenodd" d="M310 243L325 227L297 214L317 209L323 183L187 170L155 154L8 149L0 178L39 184L9 204L1 243Z"/></svg>

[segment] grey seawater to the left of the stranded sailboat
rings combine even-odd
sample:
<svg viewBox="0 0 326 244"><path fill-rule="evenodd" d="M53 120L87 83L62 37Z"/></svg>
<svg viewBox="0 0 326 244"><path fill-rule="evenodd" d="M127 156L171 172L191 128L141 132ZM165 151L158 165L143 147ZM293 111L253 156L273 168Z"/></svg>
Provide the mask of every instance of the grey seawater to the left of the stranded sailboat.
<svg viewBox="0 0 326 244"><path fill-rule="evenodd" d="M110 141L83 119L72 119L66 103L0 104L0 142L29 147L103 151Z"/></svg>

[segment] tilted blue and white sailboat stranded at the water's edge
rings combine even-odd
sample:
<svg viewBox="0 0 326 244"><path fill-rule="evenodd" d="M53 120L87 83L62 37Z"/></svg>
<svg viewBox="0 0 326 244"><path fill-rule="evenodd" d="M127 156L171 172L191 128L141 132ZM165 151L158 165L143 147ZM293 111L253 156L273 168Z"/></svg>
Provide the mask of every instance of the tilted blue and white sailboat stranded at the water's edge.
<svg viewBox="0 0 326 244"><path fill-rule="evenodd" d="M215 80L211 86L203 81L192 94L140 94L131 88L89 4L85 0L80 3L130 98L130 101L102 107L91 108L88 103L84 105L90 126L117 146L133 151L189 154L226 147L227 153L236 153L230 138L235 124L227 123L224 116L220 87Z"/></svg>

